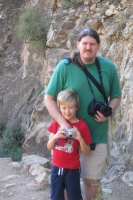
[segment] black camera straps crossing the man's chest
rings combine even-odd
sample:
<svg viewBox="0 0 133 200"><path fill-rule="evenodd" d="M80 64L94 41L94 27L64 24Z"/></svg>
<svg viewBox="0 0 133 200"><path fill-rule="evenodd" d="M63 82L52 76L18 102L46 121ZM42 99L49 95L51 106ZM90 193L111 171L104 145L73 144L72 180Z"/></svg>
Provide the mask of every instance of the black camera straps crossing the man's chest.
<svg viewBox="0 0 133 200"><path fill-rule="evenodd" d="M85 73L86 77L88 77L94 83L94 85L98 88L98 90L103 95L104 100L105 100L106 104L108 105L108 99L107 99L107 96L105 94L104 87L103 87L103 82L102 82L102 75L101 75L100 63L99 63L99 60L98 60L97 57L96 57L95 63L96 63L97 69L98 69L98 74L99 74L99 78L100 78L100 84L94 78L94 76L92 76L92 74L86 69L86 67L79 62L78 59L76 59L76 63L75 64L78 65L80 67L80 69ZM87 80L88 80L88 78L87 78ZM93 94L93 90L92 90L92 87L90 85L89 80L88 80L88 84L89 84L91 92ZM94 97L94 94L93 94L93 97Z"/></svg>

